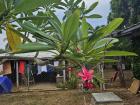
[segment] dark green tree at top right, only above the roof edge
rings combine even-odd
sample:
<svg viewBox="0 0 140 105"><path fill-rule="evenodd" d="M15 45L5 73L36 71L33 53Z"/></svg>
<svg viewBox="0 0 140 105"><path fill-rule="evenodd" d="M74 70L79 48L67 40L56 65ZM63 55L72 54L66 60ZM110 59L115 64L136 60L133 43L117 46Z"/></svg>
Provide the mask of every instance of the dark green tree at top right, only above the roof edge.
<svg viewBox="0 0 140 105"><path fill-rule="evenodd" d="M108 21L122 17L122 26L130 26L140 21L140 1L139 0L111 0L111 12Z"/></svg>

